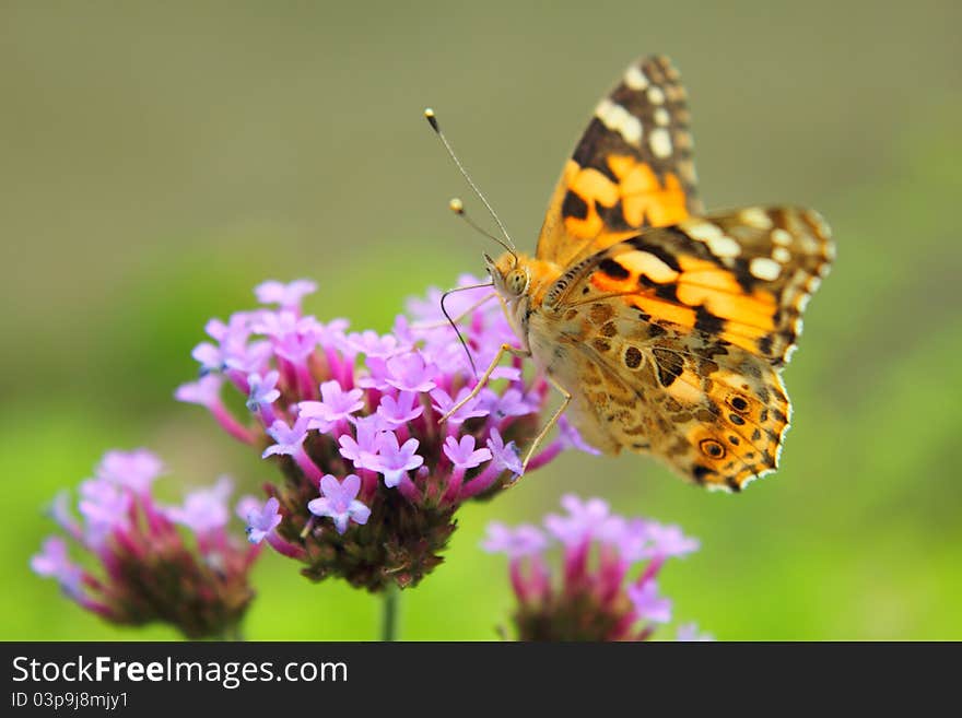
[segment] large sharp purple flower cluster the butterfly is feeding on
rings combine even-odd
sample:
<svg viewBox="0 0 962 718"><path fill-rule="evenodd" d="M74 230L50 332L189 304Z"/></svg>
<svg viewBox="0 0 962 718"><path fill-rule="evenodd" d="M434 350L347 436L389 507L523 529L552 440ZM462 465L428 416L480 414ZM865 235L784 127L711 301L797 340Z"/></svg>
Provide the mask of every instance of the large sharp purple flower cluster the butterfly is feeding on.
<svg viewBox="0 0 962 718"><path fill-rule="evenodd" d="M460 285L473 283L465 276ZM301 302L314 290L304 280L266 282L255 294L277 308L208 322L210 341L193 350L201 377L176 397L206 407L283 472L266 485L270 501L250 508L251 541L303 562L315 580L411 586L441 562L457 507L521 472L518 444L543 426L548 386L526 379L515 360L439 422L477 381L441 292L411 302L409 316L380 334L305 316ZM466 290L447 304L479 367L516 342L498 303L482 302L490 294ZM227 409L225 387L246 400L247 416ZM580 442L565 425L528 470L567 446Z"/></svg>

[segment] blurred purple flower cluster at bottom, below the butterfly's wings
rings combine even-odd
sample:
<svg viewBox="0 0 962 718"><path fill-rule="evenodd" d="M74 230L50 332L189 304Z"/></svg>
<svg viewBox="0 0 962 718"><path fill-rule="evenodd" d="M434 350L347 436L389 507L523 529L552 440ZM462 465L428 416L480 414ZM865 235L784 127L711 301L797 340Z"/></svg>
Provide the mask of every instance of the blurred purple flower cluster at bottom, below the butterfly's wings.
<svg viewBox="0 0 962 718"><path fill-rule="evenodd" d="M671 621L671 601L658 592L665 562L696 551L697 541L676 526L612 514L606 502L566 495L564 515L542 527L488 527L482 546L506 553L518 601L514 622L521 640L645 640ZM555 578L547 551L560 544ZM643 566L635 570L637 566ZM679 639L699 639L689 624Z"/></svg>

